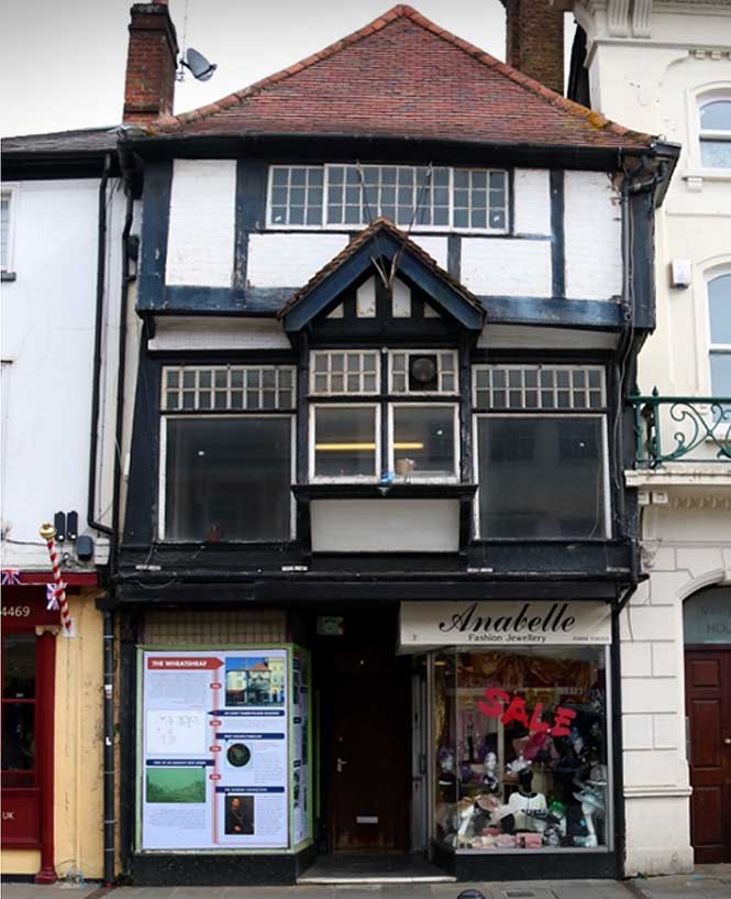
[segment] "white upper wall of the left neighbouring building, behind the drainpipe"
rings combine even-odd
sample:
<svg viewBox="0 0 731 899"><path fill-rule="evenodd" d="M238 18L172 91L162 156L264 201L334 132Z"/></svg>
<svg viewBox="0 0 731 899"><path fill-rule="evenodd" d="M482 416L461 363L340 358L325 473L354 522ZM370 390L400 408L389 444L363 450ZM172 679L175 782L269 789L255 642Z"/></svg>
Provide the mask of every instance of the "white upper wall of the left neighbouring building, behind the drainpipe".
<svg viewBox="0 0 731 899"><path fill-rule="evenodd" d="M48 567L38 526L57 511L86 525L97 278L98 180L21 183L14 207L14 282L2 285L3 567ZM102 333L98 517L111 524L120 234L124 196L110 185ZM69 547L70 550L70 547ZM97 557L99 558L99 556Z"/></svg>

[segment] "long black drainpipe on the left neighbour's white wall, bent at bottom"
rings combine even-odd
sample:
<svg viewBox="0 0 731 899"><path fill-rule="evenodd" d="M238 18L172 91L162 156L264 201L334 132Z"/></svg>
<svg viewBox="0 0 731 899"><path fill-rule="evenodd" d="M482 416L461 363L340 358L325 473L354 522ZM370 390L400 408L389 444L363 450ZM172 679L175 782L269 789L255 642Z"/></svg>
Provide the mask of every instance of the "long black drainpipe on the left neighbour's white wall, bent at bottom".
<svg viewBox="0 0 731 899"><path fill-rule="evenodd" d="M112 535L113 528L95 519L97 504L97 450L99 447L99 402L101 394L101 330L104 315L107 283L107 184L112 165L111 153L104 156L99 182L99 217L97 231L97 310L93 327L93 371L91 374L91 434L89 439L89 490L87 492L87 524L100 534Z"/></svg>

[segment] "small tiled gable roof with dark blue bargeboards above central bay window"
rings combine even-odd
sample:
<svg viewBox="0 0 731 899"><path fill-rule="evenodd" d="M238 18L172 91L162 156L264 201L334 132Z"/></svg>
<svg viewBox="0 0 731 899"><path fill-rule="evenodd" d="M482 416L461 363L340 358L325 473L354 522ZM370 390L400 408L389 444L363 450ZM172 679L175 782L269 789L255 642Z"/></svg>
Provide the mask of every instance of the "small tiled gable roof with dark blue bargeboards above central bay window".
<svg viewBox="0 0 731 899"><path fill-rule="evenodd" d="M284 319L285 330L296 332L304 328L364 273L374 268L374 260L379 263L386 261L390 270L395 259L395 270L424 290L435 306L464 328L472 331L481 329L485 310L477 297L392 222L380 218L352 240L285 304L278 314Z"/></svg>

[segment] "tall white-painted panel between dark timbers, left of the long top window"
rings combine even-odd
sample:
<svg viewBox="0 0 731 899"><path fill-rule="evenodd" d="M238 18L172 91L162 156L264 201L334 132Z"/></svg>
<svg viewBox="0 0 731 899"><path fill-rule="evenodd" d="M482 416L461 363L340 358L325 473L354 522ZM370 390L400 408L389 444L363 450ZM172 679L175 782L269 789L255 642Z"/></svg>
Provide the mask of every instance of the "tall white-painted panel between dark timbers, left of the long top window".
<svg viewBox="0 0 731 899"><path fill-rule="evenodd" d="M167 284L231 286L235 201L235 160L175 160Z"/></svg>

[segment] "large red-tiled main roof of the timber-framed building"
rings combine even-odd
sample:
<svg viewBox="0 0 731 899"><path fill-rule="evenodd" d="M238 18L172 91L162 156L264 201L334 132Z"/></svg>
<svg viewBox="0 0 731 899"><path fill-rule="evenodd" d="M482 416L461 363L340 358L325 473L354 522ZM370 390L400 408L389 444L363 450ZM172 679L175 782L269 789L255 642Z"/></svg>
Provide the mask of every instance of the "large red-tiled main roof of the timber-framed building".
<svg viewBox="0 0 731 899"><path fill-rule="evenodd" d="M398 6L313 56L156 136L343 134L485 143L646 146L622 128Z"/></svg>

